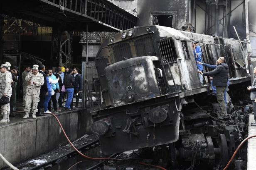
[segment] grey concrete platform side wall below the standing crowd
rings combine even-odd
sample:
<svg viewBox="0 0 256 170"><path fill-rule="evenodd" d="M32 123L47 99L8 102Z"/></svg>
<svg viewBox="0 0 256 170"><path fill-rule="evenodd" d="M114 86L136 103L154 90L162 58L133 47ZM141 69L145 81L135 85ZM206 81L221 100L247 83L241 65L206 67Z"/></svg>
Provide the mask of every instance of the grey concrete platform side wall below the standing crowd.
<svg viewBox="0 0 256 170"><path fill-rule="evenodd" d="M23 119L24 113L10 117L10 122L0 124L0 153L15 164L51 151L67 140L52 115ZM90 134L91 115L86 109L55 114L62 123L69 139L75 140ZM0 168L5 164L0 160Z"/></svg>

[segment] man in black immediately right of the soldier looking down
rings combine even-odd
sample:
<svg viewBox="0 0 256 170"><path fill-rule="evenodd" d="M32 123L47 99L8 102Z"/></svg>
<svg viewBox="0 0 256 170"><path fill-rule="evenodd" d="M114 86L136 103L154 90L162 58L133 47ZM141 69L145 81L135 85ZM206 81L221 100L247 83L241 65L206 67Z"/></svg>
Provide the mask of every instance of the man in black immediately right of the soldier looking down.
<svg viewBox="0 0 256 170"><path fill-rule="evenodd" d="M40 95L39 95L40 101L37 105L37 109L38 109L37 116L43 116L43 114L40 113L40 110L42 107L44 107L44 96L45 96L45 93L48 92L48 88L47 88L47 82L46 82L46 74L44 73L45 66L39 65L38 69L39 69L38 72L44 75L44 85L42 85L40 89Z"/></svg>

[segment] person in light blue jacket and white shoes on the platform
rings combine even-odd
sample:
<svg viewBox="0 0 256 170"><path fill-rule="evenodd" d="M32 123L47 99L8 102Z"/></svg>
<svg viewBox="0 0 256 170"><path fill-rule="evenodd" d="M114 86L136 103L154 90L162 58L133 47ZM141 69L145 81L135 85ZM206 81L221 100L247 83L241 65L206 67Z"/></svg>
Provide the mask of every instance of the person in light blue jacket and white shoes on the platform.
<svg viewBox="0 0 256 170"><path fill-rule="evenodd" d="M48 69L49 72L49 79L53 79L53 80L57 80L57 77L54 76L54 74L52 73L52 69ZM56 99L56 94L59 93L59 83L57 84L52 84L52 89L54 90L54 95L52 95L52 98L50 99L49 103L48 103L48 110L51 111L51 101L53 104L53 108L54 108L54 112L57 112L57 99Z"/></svg>

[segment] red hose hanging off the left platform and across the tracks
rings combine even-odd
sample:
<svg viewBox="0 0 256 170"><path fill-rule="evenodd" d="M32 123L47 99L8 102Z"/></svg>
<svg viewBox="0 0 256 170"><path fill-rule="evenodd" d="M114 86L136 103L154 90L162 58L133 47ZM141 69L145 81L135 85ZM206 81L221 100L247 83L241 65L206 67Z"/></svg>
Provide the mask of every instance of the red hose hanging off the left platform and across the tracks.
<svg viewBox="0 0 256 170"><path fill-rule="evenodd" d="M44 114L52 115L57 120L57 122L59 123L59 127L62 129L62 132L63 132L64 136L66 137L66 139L69 141L69 144L76 150L77 153L79 153L79 155L83 156L84 158L91 159L91 160L123 160L123 159L116 159L116 158L92 158L92 157L84 155L83 153L78 151L77 148L69 140L69 137L66 135L66 132L64 131L64 129L62 127L62 124L59 122L58 117L56 115L54 115L53 113L44 113ZM80 161L80 162L83 162L83 161ZM80 163L80 162L78 162L78 163ZM76 164L78 164L78 163L76 163ZM74 165L76 165L76 164L74 164ZM160 166L157 166L157 165L151 165L151 164L148 164L148 163L139 162L139 164L146 165L146 166L152 166L152 167L155 167L155 168L159 168L161 170L166 170L163 167L160 167ZM71 166L69 169L71 169L72 167L73 166ZM18 169L15 169L15 170L18 170Z"/></svg>

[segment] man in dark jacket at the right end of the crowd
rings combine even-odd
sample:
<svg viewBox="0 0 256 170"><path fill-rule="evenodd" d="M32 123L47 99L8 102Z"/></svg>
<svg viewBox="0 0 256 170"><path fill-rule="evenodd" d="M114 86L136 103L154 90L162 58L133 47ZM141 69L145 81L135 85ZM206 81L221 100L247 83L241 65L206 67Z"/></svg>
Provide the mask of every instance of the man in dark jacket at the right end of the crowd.
<svg viewBox="0 0 256 170"><path fill-rule="evenodd" d="M79 93L83 91L83 78L82 75L78 72L78 68L75 67L73 69L73 76L75 78L75 86L74 86L74 95L76 96L76 106L75 109L78 108L78 102L79 102ZM71 103L71 108L73 107L73 99Z"/></svg>

